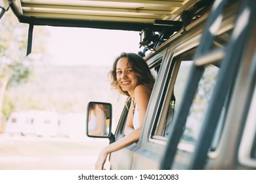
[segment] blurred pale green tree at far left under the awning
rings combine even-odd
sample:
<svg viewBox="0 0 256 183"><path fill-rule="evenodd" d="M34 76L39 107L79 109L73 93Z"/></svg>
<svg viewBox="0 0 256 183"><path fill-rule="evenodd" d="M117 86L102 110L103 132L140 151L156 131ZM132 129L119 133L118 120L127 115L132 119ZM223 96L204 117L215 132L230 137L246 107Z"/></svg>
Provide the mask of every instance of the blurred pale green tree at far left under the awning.
<svg viewBox="0 0 256 183"><path fill-rule="evenodd" d="M0 20L0 132L1 128L3 130L4 117L9 116L3 111L5 93L14 84L28 80L33 57L40 59L44 51L44 44L41 41L40 44L33 45L33 56L26 56L28 27L28 24L20 24L11 10L5 12ZM43 31L42 29L41 33Z"/></svg>

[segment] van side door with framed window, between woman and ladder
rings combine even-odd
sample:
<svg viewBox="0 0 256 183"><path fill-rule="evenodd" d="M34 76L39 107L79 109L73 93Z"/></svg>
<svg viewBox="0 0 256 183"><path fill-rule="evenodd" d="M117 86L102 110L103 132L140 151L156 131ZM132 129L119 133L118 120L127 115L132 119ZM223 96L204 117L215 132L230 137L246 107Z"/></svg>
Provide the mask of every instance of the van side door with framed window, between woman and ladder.
<svg viewBox="0 0 256 183"><path fill-rule="evenodd" d="M161 65L152 92L141 145L133 155L132 169L160 169L169 128L176 107L179 107L182 91L192 65L191 58L194 56L194 52L189 51L173 57L175 52L171 47L169 47L169 55Z"/></svg>

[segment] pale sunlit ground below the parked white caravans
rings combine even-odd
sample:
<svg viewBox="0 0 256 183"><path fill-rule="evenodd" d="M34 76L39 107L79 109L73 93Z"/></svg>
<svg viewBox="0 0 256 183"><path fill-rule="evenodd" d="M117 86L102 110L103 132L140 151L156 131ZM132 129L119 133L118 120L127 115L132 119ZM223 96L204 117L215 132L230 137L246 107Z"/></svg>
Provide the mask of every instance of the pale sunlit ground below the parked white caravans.
<svg viewBox="0 0 256 183"><path fill-rule="evenodd" d="M108 139L0 135L2 170L93 170Z"/></svg>

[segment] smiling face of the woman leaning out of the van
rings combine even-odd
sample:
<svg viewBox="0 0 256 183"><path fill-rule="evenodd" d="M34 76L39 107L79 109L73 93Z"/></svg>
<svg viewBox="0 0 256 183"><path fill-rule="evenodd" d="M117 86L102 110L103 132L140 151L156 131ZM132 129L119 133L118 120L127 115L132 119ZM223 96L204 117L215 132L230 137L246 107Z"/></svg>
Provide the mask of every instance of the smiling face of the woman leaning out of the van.
<svg viewBox="0 0 256 183"><path fill-rule="evenodd" d="M121 89L134 97L134 90L139 85L139 78L127 58L120 58L117 61L116 78Z"/></svg>

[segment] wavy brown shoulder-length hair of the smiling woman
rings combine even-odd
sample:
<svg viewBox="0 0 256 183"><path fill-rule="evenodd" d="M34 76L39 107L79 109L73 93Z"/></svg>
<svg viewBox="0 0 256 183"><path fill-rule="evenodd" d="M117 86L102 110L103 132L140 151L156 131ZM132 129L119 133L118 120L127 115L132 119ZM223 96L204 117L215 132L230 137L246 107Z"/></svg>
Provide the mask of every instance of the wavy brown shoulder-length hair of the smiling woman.
<svg viewBox="0 0 256 183"><path fill-rule="evenodd" d="M121 89L121 86L119 86L119 84L117 82L116 65L117 65L117 61L120 58L128 59L128 62L131 64L133 71L139 78L139 84L144 84L146 86L149 86L150 88L153 88L154 83L155 83L155 78L152 75L152 73L150 72L150 69L149 69L146 61L144 61L144 59L141 56L139 56L138 54L123 52L123 53L121 53L120 56L118 56L115 59L112 70L109 73L110 78L111 78L110 84L111 84L112 89L116 89L117 92L130 97L129 93L127 91L123 91Z"/></svg>

